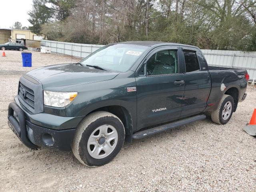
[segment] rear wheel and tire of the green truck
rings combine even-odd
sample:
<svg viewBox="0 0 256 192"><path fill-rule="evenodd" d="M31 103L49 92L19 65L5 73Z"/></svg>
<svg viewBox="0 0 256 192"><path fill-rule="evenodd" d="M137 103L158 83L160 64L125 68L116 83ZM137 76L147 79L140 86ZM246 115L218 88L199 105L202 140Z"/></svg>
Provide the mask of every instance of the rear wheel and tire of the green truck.
<svg viewBox="0 0 256 192"><path fill-rule="evenodd" d="M220 101L218 109L211 113L214 123L226 124L232 117L234 111L234 99L230 95L224 95Z"/></svg>

